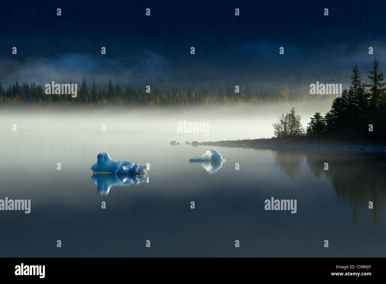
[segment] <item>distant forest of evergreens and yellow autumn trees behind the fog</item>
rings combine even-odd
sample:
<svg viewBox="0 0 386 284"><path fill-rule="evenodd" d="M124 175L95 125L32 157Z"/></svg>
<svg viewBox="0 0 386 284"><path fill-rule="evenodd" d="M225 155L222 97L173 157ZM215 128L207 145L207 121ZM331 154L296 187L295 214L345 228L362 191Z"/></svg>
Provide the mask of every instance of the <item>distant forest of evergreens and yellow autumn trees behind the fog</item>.
<svg viewBox="0 0 386 284"><path fill-rule="evenodd" d="M50 82L51 83L51 82ZM57 82L56 82L57 83ZM66 83L66 82L63 82ZM69 83L73 83L72 80ZM289 82L290 85L295 83ZM281 83L282 88L284 88ZM280 87L279 87L280 88ZM309 96L307 94L293 94L288 87L279 91L276 83L269 85L266 82L252 82L251 84L235 86L229 83L205 82L190 86L176 86L174 82L163 84L153 84L151 92L146 92L144 86L134 86L127 83L121 86L113 83L111 78L107 87L96 85L95 81L90 85L83 78L78 84L77 97L72 98L71 94L46 94L46 88L35 82L19 83L17 80L8 88L3 87L0 81L0 104L73 104L73 105L150 105L150 106L188 106L196 104L204 105L243 105L243 104L262 104L267 102L287 104L295 103L305 105L314 100L331 100L330 95ZM161 89L164 91L161 92Z"/></svg>

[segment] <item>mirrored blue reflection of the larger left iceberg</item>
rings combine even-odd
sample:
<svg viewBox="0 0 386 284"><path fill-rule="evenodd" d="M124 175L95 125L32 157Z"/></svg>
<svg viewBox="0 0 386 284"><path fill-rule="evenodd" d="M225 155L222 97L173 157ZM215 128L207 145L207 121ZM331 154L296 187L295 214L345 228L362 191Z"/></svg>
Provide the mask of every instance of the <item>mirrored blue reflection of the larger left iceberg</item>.
<svg viewBox="0 0 386 284"><path fill-rule="evenodd" d="M101 195L108 194L113 186L129 186L140 184L141 182L149 182L147 175L115 175L114 173L93 174L91 179L97 185L97 190Z"/></svg>

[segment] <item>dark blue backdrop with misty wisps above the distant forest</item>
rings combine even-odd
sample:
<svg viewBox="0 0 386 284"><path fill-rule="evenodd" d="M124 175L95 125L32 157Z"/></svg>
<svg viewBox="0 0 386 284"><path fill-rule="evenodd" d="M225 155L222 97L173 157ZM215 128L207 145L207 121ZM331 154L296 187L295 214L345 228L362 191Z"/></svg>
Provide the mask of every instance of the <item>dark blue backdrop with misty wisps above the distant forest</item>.
<svg viewBox="0 0 386 284"><path fill-rule="evenodd" d="M0 80L344 83L356 64L366 76L374 56L381 71L386 66L385 8L383 1L7 0Z"/></svg>

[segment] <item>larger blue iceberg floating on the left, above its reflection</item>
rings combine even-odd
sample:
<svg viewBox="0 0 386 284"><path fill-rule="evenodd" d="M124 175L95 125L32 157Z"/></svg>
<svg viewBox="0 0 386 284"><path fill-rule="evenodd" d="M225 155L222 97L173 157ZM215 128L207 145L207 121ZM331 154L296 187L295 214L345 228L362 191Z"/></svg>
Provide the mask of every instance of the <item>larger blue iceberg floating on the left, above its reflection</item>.
<svg viewBox="0 0 386 284"><path fill-rule="evenodd" d="M146 165L134 164L127 160L112 160L107 152L99 153L97 162L92 165L94 173L115 173L117 175L141 175L147 173Z"/></svg>

